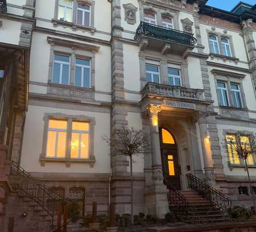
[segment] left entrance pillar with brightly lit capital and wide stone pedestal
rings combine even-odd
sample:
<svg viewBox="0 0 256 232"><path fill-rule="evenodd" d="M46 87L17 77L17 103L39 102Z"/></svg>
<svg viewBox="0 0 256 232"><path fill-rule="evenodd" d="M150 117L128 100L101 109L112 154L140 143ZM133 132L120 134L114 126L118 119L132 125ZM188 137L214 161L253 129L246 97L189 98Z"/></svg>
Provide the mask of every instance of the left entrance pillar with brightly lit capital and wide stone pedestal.
<svg viewBox="0 0 256 232"><path fill-rule="evenodd" d="M162 174L161 149L159 140L158 113L161 105L149 105L151 152L152 152L152 186L145 192L146 213L164 218L169 211L168 190L164 185Z"/></svg>

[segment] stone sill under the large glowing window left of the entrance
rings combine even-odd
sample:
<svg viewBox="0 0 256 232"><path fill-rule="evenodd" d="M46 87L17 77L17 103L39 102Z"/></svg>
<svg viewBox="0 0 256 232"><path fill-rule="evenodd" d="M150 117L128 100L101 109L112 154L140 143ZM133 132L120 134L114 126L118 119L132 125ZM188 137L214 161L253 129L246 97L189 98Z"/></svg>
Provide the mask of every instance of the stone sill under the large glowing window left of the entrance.
<svg viewBox="0 0 256 232"><path fill-rule="evenodd" d="M70 168L71 163L82 163L82 164L90 164L90 168L94 168L94 164L96 162L95 157L87 158L48 158L48 157L40 157L39 159L41 166L45 166L46 162L65 162L66 167Z"/></svg>

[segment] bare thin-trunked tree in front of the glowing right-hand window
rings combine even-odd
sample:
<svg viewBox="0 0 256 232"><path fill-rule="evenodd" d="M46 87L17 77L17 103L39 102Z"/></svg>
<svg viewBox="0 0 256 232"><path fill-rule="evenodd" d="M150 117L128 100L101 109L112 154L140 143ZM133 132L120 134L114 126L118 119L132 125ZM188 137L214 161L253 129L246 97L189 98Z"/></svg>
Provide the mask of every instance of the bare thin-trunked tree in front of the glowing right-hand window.
<svg viewBox="0 0 256 232"><path fill-rule="evenodd" d="M227 150L231 149L235 152L239 159L245 162L245 168L247 172L247 177L250 185L250 196L251 201L253 201L254 211L256 210L256 203L254 199L254 192L251 188L251 178L248 169L248 160L251 156L256 154L256 137L254 135L244 135L242 132L237 132L234 134L235 139L233 137L226 138L226 146Z"/></svg>

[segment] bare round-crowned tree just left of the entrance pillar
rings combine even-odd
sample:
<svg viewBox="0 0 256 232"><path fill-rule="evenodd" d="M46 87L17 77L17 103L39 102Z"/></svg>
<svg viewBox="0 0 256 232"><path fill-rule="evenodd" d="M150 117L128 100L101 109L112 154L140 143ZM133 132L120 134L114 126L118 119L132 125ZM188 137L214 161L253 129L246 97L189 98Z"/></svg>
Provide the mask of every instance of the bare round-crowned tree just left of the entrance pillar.
<svg viewBox="0 0 256 232"><path fill-rule="evenodd" d="M131 175L131 218L133 222L133 173L132 164L133 156L143 156L150 152L149 140L147 133L141 130L136 130L131 127L121 127L112 132L111 138L103 136L111 147L114 154L123 154L128 156L130 160L130 175Z"/></svg>

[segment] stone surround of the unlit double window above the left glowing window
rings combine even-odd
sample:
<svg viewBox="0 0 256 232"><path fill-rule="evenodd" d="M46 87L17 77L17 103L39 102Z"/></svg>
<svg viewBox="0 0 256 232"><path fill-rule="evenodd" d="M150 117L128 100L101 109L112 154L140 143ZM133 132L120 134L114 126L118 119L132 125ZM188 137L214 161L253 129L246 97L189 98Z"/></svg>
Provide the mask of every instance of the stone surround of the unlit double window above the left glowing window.
<svg viewBox="0 0 256 232"><path fill-rule="evenodd" d="M47 37L47 41L48 43L51 44L47 93L63 95L68 97L75 97L78 99L86 98L86 99L94 100L95 53L99 51L100 47L93 46L91 44L78 43L70 40L63 40L63 39L51 38L51 37ZM83 55L80 54L79 52L80 50L83 50ZM55 54L68 55L71 57L69 85L53 83L51 81ZM91 60L91 87L90 88L74 86L76 58Z"/></svg>

